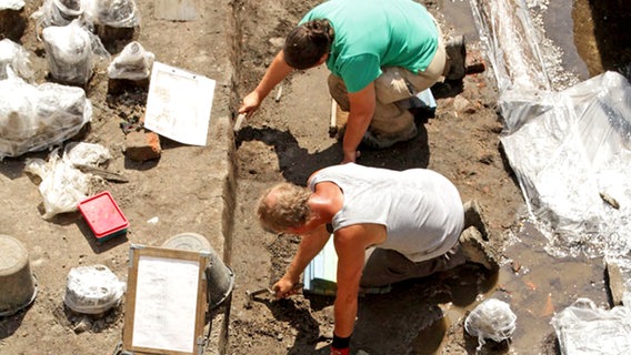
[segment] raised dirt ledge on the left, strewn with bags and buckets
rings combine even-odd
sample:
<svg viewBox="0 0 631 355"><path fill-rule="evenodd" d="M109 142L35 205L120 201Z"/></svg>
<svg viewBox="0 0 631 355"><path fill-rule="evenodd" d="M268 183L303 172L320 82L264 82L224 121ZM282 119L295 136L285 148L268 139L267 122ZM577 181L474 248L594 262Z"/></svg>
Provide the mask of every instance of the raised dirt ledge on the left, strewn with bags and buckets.
<svg viewBox="0 0 631 355"><path fill-rule="evenodd" d="M20 14L27 20L26 30L12 38L30 53L36 83L50 81L46 50L30 19L41 3L28 2ZM0 163L0 233L27 247L38 295L28 310L0 320L0 354L113 353L122 339L124 300L103 316L73 314L63 304L67 276L73 267L103 264L127 281L131 244L160 246L184 232L204 235L219 255L227 254L223 246L231 214L227 206L233 209L230 197L223 195L233 185L230 115L234 70L227 50L233 43L233 32L227 31L233 28L232 8L226 2L199 2L199 18L191 22L154 19L153 1L139 2L138 10L141 27L133 39L154 53L156 61L217 81L208 144L184 145L161 138L159 160L128 159L121 124L142 116L147 91L128 88L121 94L108 94L106 65L97 64L86 88L93 108L92 121L74 140L108 148L112 159L107 170L129 181L102 181L94 186L94 192L111 192L130 222L129 232L99 244L78 212L42 219L42 196L37 180L24 173L24 165L29 158L47 159L48 152L4 159ZM103 44L113 58L130 40Z"/></svg>

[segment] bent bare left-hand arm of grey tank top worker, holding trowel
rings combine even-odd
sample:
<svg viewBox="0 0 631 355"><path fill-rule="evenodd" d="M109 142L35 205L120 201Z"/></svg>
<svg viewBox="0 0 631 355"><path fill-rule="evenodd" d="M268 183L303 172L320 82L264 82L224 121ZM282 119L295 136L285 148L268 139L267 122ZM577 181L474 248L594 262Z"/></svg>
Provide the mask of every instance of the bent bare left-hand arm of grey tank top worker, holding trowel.
<svg viewBox="0 0 631 355"><path fill-rule="evenodd" d="M327 232L325 225L320 225L308 234L302 235L298 252L293 256L291 264L289 264L284 276L273 285L277 297L284 297L291 294L293 286L300 280L300 274L302 274L309 262L324 247L329 237L330 234Z"/></svg>

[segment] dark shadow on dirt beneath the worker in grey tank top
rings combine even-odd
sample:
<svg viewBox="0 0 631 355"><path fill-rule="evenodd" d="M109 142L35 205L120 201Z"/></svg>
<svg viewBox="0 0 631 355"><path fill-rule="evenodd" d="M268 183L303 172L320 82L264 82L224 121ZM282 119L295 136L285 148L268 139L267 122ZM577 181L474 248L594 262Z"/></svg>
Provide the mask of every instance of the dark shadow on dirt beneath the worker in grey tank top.
<svg viewBox="0 0 631 355"><path fill-rule="evenodd" d="M493 287L497 276L497 273L487 274L477 265L465 264L450 272L394 284L387 294L361 296L351 348L368 354L435 354L449 327L443 308L473 304L479 294ZM313 294L300 298L258 302L270 310L274 320L294 329L296 342L287 354L329 354L329 346L324 344L331 339L320 335L322 320L318 321L311 312L329 307L332 322L334 298ZM468 334L463 337L467 354L475 354L478 339ZM498 343L488 344L485 348L503 354L508 346Z"/></svg>

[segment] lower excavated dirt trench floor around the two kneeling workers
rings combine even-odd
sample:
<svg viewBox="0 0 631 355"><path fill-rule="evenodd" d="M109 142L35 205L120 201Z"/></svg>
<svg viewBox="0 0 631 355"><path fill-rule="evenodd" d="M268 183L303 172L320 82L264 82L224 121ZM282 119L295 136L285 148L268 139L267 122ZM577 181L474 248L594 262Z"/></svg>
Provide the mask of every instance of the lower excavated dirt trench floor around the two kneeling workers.
<svg viewBox="0 0 631 355"><path fill-rule="evenodd" d="M276 43L302 13L318 1L268 3L243 1L243 51L239 94L256 87L279 50ZM441 20L435 2L428 8ZM457 24L444 24L448 34ZM469 43L474 53L479 43ZM501 248L503 233L518 221L523 204L499 146L501 122L495 112L497 91L490 72L468 75L464 82L434 88L435 116L418 119L419 135L384 151L361 151L360 164L394 170L429 168L451 179L463 200L477 199L485 209ZM291 181L306 184L318 169L341 162L341 146L328 135L331 99L324 68L294 73L263 102L249 125L237 135L238 207L232 265L238 286L231 310L233 354L328 354L332 338L331 297L297 295L280 302L244 307L246 290L269 286L284 272L299 240L264 233L253 206L270 185ZM254 266L254 267L253 267ZM387 295L361 298L352 349L369 354L473 353L477 341L465 337L462 317L443 313L470 310L478 296L492 293L494 277L462 267L452 277L428 277L395 285ZM452 311L450 311L452 310ZM442 343L442 344L441 344ZM492 347L491 347L492 348ZM500 351L501 353L501 351Z"/></svg>

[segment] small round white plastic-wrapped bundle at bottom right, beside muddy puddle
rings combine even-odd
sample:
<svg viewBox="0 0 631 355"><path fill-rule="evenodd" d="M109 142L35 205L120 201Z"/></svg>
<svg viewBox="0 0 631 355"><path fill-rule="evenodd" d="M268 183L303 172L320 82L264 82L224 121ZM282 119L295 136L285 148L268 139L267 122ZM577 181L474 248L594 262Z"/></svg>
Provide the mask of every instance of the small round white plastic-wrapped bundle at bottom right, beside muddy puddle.
<svg viewBox="0 0 631 355"><path fill-rule="evenodd" d="M515 328L515 320L517 316L508 303L489 298L471 311L464 320L464 328L467 333L478 337L478 351L480 351L485 343L484 339L499 343L510 338Z"/></svg>

